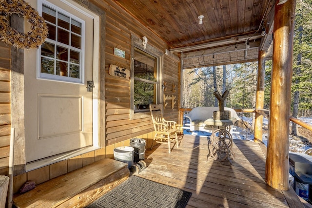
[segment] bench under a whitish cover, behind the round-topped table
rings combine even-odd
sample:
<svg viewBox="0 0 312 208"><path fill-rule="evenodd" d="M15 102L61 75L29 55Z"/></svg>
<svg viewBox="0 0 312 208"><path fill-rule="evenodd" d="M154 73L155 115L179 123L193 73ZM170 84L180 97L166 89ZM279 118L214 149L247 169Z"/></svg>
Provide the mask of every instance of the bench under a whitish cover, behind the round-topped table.
<svg viewBox="0 0 312 208"><path fill-rule="evenodd" d="M190 131L212 132L212 126L206 125L205 120L214 116L214 111L219 111L219 107L196 107L185 115L190 120ZM237 113L232 108L224 108L224 111L231 111L231 117L240 120ZM232 130L232 127L231 127ZM232 133L232 131L230 131Z"/></svg>

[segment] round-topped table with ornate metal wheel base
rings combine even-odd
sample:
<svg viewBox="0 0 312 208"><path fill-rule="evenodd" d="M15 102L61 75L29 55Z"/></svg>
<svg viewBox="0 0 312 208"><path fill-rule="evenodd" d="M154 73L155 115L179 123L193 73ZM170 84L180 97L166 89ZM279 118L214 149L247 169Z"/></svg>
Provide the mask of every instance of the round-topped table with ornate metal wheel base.
<svg viewBox="0 0 312 208"><path fill-rule="evenodd" d="M234 124L235 118L226 120L214 120L213 118L205 121L206 125L213 127L213 132L208 142L207 160L213 158L217 161L228 159L232 165L231 157L235 156L232 151L233 137L230 133L230 127Z"/></svg>

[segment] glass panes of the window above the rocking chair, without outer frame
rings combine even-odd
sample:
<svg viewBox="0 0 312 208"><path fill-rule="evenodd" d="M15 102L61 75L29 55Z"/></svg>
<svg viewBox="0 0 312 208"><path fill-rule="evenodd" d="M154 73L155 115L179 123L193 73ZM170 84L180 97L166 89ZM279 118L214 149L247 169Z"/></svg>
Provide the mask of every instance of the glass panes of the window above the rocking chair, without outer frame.
<svg viewBox="0 0 312 208"><path fill-rule="evenodd" d="M135 48L134 75L135 112L149 111L156 103L157 58Z"/></svg>

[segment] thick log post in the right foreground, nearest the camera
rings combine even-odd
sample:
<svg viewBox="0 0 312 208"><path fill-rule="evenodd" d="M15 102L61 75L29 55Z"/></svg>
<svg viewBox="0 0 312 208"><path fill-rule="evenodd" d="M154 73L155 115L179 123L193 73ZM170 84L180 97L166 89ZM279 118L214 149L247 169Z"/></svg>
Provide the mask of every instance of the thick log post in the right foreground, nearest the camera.
<svg viewBox="0 0 312 208"><path fill-rule="evenodd" d="M275 2L274 10L273 68L265 180L274 189L288 190L289 118L296 1L280 2Z"/></svg>

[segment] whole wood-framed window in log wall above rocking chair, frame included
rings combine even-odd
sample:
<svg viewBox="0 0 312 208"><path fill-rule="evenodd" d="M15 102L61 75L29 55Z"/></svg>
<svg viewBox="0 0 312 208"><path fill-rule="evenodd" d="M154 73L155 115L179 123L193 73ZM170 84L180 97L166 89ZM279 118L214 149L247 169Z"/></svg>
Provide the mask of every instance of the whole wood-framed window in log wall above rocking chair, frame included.
<svg viewBox="0 0 312 208"><path fill-rule="evenodd" d="M163 59L161 50L131 35L130 119L151 116L149 105L162 103Z"/></svg>

